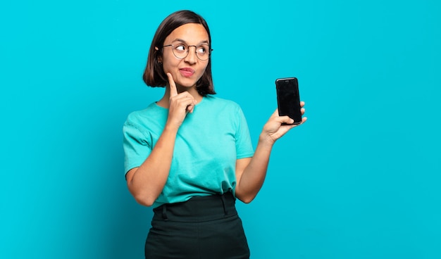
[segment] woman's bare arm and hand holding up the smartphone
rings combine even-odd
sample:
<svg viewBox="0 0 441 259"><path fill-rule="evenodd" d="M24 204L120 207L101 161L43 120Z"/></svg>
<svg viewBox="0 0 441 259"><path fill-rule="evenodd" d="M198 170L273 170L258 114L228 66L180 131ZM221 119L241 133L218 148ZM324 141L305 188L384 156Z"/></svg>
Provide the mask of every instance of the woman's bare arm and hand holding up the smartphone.
<svg viewBox="0 0 441 259"><path fill-rule="evenodd" d="M304 106L304 102L301 102ZM302 108L302 114L304 108ZM306 121L303 118L302 123ZM268 162L270 160L271 150L276 140L280 139L286 132L298 125L282 125L282 123L292 123L294 120L287 116L279 116L278 110L275 110L259 136L259 142L252 158L237 159L236 162L236 197L244 203L251 202L261 189L266 177ZM301 124L302 124L301 123Z"/></svg>

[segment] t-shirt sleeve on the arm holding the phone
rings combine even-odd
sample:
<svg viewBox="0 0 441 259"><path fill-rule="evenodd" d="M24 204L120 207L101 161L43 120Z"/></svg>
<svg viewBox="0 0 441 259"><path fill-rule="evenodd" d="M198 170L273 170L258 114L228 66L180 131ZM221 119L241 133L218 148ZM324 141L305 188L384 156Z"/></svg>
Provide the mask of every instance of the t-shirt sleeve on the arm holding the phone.
<svg viewBox="0 0 441 259"><path fill-rule="evenodd" d="M242 109L237 110L237 132L236 132L236 156L240 158L250 158L254 155L254 149L249 136L247 120Z"/></svg>

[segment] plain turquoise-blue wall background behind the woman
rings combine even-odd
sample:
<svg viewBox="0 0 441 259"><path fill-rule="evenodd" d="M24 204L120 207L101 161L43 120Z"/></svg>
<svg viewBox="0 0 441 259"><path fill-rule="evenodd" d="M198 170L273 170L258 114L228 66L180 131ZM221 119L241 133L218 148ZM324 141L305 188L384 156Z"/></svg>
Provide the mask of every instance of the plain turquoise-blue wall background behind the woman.
<svg viewBox="0 0 441 259"><path fill-rule="evenodd" d="M141 77L180 9L208 21L216 91L254 145L276 78L306 101L237 205L251 258L441 258L439 1L176 3L1 4L1 258L142 258L151 208L125 186L121 128L163 94Z"/></svg>

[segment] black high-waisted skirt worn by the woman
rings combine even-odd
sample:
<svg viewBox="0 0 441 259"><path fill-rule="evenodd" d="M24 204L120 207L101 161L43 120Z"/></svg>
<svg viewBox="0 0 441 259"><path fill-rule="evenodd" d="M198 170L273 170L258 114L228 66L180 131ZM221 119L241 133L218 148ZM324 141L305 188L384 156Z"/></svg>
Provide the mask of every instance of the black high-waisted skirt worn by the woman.
<svg viewBox="0 0 441 259"><path fill-rule="evenodd" d="M249 258L242 220L231 193L193 197L154 208L147 259Z"/></svg>

